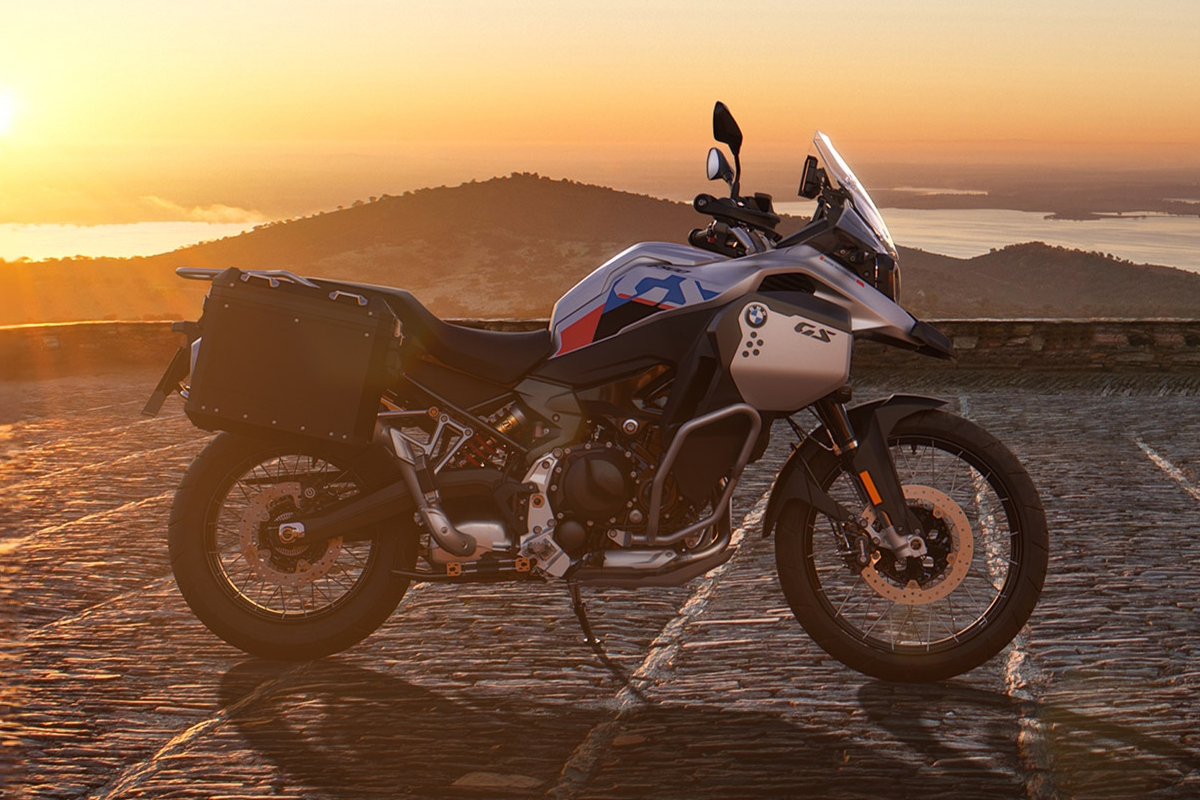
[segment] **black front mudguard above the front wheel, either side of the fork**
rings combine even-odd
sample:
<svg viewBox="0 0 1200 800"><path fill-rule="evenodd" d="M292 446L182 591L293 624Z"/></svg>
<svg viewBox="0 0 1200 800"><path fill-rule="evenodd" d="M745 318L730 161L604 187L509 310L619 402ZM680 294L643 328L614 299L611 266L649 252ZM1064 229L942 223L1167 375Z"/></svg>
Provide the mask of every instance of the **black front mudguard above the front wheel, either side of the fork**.
<svg viewBox="0 0 1200 800"><path fill-rule="evenodd" d="M886 441L900 420L918 411L942 405L946 405L946 401L935 397L892 395L884 399L856 405L848 409L848 414L850 422L860 443L866 441L869 437L882 437L882 440ZM809 463L821 452L823 452L823 447L818 444L818 437L810 435L788 456L784 468L775 476L775 486L770 491L770 499L767 500L767 511L762 519L763 536L770 536L774 533L785 501L790 499L805 503L834 519L848 521L853 518L850 510L829 497L828 492L817 485L809 470Z"/></svg>

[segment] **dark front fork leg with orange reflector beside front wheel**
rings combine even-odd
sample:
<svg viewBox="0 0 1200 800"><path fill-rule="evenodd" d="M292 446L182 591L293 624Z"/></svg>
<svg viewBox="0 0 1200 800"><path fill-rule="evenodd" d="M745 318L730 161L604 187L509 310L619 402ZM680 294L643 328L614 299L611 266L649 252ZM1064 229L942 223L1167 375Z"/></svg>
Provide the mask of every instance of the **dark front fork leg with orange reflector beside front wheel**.
<svg viewBox="0 0 1200 800"><path fill-rule="evenodd" d="M859 499L875 510L874 521L859 519L871 543L892 551L896 560L923 558L925 541L910 522L904 487L877 419L872 416L865 431L854 431L840 398L823 397L814 408Z"/></svg>

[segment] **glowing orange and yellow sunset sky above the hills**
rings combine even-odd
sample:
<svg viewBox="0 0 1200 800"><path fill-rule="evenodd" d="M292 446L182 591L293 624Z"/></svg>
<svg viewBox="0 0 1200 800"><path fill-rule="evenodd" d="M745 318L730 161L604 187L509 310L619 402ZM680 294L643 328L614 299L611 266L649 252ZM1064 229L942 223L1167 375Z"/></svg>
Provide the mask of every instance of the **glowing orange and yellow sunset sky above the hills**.
<svg viewBox="0 0 1200 800"><path fill-rule="evenodd" d="M512 170L1200 166L1195 0L5 0L0 222L278 218Z"/></svg>

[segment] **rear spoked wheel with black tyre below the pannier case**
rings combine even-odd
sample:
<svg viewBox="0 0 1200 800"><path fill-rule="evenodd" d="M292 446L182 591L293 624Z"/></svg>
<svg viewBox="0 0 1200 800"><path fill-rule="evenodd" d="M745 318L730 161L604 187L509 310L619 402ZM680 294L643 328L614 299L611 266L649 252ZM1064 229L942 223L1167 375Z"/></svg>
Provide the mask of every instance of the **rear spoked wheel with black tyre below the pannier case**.
<svg viewBox="0 0 1200 800"><path fill-rule="evenodd" d="M368 474L370 473L370 474ZM386 475L319 446L221 434L175 494L170 560L214 633L282 660L344 650L374 631L408 588L415 535L385 525L306 542L287 522L343 503Z"/></svg>

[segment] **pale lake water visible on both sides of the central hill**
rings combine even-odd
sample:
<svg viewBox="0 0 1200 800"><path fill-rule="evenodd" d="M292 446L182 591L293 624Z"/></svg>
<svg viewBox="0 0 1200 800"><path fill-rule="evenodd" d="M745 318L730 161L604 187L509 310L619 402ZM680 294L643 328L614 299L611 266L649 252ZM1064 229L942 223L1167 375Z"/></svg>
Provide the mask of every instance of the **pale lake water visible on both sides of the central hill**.
<svg viewBox="0 0 1200 800"><path fill-rule="evenodd" d="M784 213L809 215L811 203L780 203ZM1128 213L1103 219L1046 219L1028 211L995 209L883 209L896 243L971 258L992 247L1044 241L1112 253L1138 264L1200 272L1200 217ZM235 236L254 223L139 222L122 225L0 224L0 258L155 255L202 241ZM686 231L680 231L680 239ZM632 242L630 242L632 243Z"/></svg>

